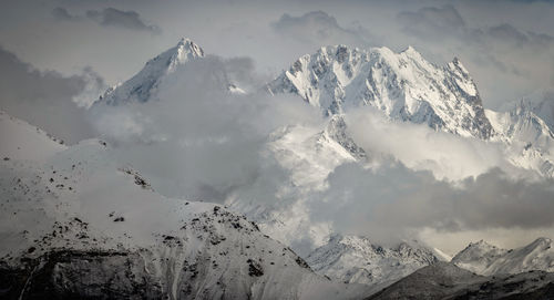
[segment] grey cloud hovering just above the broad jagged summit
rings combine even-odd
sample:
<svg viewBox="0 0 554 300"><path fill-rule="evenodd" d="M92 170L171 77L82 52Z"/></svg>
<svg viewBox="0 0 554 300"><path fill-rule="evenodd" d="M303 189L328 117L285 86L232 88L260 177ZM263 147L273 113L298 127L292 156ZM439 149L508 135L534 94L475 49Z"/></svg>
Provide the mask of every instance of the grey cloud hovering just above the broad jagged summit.
<svg viewBox="0 0 554 300"><path fill-rule="evenodd" d="M271 23L271 28L285 38L317 44L368 44L371 38L369 31L360 25L346 29L339 25L335 17L324 11L310 11L300 17L283 14Z"/></svg>

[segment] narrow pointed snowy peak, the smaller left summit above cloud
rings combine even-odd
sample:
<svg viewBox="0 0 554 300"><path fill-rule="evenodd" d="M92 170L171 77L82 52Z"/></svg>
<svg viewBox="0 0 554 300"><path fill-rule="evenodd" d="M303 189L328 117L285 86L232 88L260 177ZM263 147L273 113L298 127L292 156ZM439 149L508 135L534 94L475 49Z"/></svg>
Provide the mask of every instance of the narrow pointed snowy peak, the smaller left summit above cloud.
<svg viewBox="0 0 554 300"><path fill-rule="evenodd" d="M204 50L188 39L182 39L176 46L146 62L136 75L121 85L109 89L100 97L107 105L125 102L146 102L157 89L160 82L188 61L204 58Z"/></svg>

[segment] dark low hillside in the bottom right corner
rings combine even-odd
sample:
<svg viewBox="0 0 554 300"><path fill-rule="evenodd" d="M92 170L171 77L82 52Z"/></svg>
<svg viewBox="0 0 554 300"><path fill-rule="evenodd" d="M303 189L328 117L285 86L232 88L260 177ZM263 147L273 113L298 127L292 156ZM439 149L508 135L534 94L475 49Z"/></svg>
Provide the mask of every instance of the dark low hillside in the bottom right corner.
<svg viewBox="0 0 554 300"><path fill-rule="evenodd" d="M367 299L552 299L554 273L482 277L439 262L422 268Z"/></svg>

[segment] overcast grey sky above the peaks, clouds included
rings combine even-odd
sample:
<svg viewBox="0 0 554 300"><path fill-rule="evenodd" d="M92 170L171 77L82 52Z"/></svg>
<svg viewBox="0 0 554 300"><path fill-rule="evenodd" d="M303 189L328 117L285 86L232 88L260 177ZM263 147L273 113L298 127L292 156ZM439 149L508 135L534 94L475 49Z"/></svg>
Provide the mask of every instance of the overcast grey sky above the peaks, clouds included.
<svg viewBox="0 0 554 300"><path fill-rule="evenodd" d="M554 85L552 1L2 2L0 46L65 75L91 66L107 84L187 37L268 75L326 44L411 44L438 64L459 56L492 108Z"/></svg>

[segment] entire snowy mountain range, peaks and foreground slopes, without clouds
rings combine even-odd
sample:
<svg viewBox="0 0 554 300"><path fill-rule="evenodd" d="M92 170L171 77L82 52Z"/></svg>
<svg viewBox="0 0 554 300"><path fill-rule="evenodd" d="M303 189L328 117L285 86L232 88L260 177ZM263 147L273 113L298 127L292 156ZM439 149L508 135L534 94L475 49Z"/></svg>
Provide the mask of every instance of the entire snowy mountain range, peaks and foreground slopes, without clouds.
<svg viewBox="0 0 554 300"><path fill-rule="evenodd" d="M109 89L92 108L157 101L158 89L179 68L205 58L202 48L182 39L129 81ZM229 93L246 94L240 83L222 84ZM514 167L552 177L553 128L534 107L522 103L510 112L485 110L460 60L438 66L413 48L394 53L387 48L324 46L299 58L265 89L273 95L296 94L326 116L322 127L290 124L267 137L263 151L288 172L293 187L288 200L271 209L242 199L222 206L164 197L133 166L119 165L109 143L63 145L2 112L1 139L10 143L0 146L0 187L7 199L0 207L0 296L552 296L550 239L514 250L480 241L450 259L414 240L383 247L368 237L334 232L309 218L307 198L326 188L337 166L366 166L372 158L345 117L362 106L390 122L500 143Z"/></svg>

